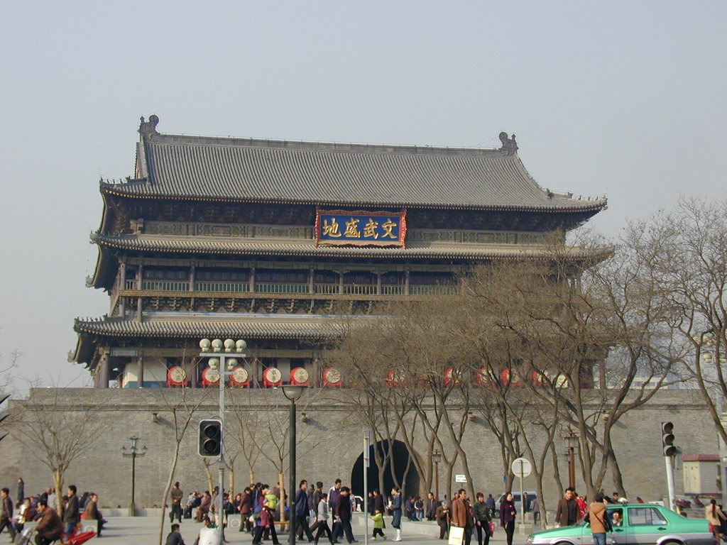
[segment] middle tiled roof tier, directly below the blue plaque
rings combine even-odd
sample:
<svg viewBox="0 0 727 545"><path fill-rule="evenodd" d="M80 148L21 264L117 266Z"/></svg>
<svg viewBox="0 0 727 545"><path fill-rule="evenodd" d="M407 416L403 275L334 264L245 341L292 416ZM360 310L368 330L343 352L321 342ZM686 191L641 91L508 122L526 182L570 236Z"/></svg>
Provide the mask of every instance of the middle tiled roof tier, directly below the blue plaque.
<svg viewBox="0 0 727 545"><path fill-rule="evenodd" d="M545 257L544 246L525 244L411 243L407 248L318 246L310 240L174 237L166 235L95 235L99 246L139 252L239 256L343 257L385 259L517 259ZM571 248L571 259L603 259L611 249Z"/></svg>

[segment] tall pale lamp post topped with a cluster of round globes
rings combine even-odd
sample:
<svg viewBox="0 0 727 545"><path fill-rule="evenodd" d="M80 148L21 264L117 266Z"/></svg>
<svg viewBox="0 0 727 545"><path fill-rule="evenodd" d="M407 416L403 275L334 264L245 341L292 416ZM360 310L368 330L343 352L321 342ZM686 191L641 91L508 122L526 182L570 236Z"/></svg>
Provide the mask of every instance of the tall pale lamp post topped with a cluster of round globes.
<svg viewBox="0 0 727 545"><path fill-rule="evenodd" d="M220 370L220 429L222 433L220 435L220 459L217 460L217 470L220 477L220 485L217 493L217 514L220 516L220 524L217 528L220 528L222 533L222 526L225 513L225 377L230 375L230 371L237 366L236 358L245 357L245 349L247 343L243 340L233 341L233 339L202 339L199 342L199 348L201 350L200 358L210 358L209 363L214 363L219 366ZM210 365L212 367L212 365Z"/></svg>

